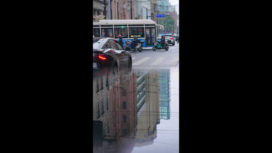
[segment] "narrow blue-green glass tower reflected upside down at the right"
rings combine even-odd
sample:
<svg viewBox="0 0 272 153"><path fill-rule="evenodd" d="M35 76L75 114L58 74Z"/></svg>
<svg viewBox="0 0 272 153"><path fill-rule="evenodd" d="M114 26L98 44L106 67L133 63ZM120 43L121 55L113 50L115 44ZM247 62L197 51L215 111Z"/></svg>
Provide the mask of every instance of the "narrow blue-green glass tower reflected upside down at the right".
<svg viewBox="0 0 272 153"><path fill-rule="evenodd" d="M170 69L160 69L159 86L160 86L160 118L170 119ZM162 94L163 93L163 94Z"/></svg>

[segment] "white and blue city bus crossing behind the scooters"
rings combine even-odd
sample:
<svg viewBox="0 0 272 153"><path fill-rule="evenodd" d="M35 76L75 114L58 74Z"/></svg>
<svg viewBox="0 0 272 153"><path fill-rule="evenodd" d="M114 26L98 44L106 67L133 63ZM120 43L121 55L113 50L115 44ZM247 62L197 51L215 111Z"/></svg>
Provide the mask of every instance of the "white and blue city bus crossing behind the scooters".
<svg viewBox="0 0 272 153"><path fill-rule="evenodd" d="M144 40L143 49L153 47L158 36L158 30L163 26L156 25L153 20L100 20L93 22L93 35L95 37L111 37L118 39L118 35L123 38L123 44L126 41Z"/></svg>

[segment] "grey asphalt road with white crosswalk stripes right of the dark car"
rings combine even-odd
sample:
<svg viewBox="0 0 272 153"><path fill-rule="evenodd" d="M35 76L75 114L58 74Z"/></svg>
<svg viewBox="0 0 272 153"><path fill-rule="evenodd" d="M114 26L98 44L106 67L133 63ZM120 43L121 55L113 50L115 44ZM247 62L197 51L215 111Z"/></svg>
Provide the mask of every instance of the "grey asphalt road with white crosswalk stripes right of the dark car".
<svg viewBox="0 0 272 153"><path fill-rule="evenodd" d="M173 68L179 62L179 44L169 45L169 50L143 50L132 54L132 68Z"/></svg>

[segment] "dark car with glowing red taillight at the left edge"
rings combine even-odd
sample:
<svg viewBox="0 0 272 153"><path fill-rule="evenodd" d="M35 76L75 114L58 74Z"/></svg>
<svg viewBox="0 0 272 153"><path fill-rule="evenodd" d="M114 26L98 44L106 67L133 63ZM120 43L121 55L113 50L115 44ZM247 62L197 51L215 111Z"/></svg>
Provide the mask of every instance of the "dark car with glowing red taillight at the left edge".
<svg viewBox="0 0 272 153"><path fill-rule="evenodd" d="M93 39L93 69L111 70L116 73L120 70L131 71L132 58L121 44L112 38L95 37Z"/></svg>

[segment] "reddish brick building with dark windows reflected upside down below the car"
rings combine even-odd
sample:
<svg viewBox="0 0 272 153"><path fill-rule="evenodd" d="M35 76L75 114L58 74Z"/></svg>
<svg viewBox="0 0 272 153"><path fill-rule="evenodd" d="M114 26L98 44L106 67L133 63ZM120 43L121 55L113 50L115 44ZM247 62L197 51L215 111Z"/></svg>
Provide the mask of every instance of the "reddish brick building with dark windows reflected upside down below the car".
<svg viewBox="0 0 272 153"><path fill-rule="evenodd" d="M123 87L124 89L116 88ZM137 126L137 75L103 74L93 80L93 121L103 122L104 139L133 136Z"/></svg>

